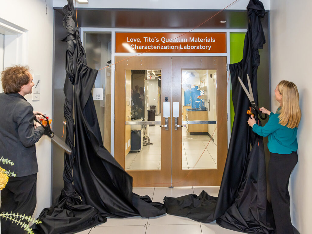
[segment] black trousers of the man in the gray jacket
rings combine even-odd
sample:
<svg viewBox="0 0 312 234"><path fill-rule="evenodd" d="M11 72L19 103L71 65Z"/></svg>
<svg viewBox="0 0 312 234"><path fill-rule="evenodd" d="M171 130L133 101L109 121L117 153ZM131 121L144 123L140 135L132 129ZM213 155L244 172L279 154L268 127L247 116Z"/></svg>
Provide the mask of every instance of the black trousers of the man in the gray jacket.
<svg viewBox="0 0 312 234"><path fill-rule="evenodd" d="M9 177L6 187L1 191L1 213L32 216L37 202L36 188L37 174ZM20 225L17 226L17 223L1 218L1 233L24 234L25 231Z"/></svg>

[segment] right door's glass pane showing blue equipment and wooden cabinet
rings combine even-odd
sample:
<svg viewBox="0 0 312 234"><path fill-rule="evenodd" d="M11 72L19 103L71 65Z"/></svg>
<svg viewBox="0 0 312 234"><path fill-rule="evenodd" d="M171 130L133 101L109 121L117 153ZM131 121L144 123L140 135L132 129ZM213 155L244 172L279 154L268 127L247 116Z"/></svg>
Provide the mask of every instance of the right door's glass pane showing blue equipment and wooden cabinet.
<svg viewBox="0 0 312 234"><path fill-rule="evenodd" d="M216 70L182 70L184 121L217 121ZM217 124L182 128L182 169L217 169Z"/></svg>

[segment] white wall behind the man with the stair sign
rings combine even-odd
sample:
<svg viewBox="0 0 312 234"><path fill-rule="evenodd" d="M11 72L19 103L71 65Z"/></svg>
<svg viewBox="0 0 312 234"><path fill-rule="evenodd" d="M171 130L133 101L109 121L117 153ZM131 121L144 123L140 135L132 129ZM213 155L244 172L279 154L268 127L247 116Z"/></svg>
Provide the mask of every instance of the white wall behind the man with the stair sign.
<svg viewBox="0 0 312 234"><path fill-rule="evenodd" d="M47 2L47 14L46 14ZM22 63L29 65L33 74L41 76L41 98L33 102L32 94L25 98L34 110L52 114L52 52L53 52L53 10L52 0L1 1L0 17L27 30L24 36ZM62 105L62 104L61 104ZM54 123L56 124L56 123ZM36 144L39 166L37 180L37 208L34 216L51 200L51 140L43 136Z"/></svg>

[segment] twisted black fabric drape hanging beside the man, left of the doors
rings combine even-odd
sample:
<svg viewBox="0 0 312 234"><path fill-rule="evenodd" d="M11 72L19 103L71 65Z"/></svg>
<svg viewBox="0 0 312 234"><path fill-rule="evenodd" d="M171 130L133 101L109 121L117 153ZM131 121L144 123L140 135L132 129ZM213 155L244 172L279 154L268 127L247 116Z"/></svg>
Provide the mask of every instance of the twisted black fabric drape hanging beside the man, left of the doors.
<svg viewBox="0 0 312 234"><path fill-rule="evenodd" d="M73 9L73 1L68 0L63 8L67 36L62 40L67 43L66 143L72 154L64 157L64 189L57 203L41 212L38 219L42 223L33 226L37 233L76 233L106 222L106 216L154 217L165 213L162 203L132 193L132 177L103 146L91 95L98 70L86 65Z"/></svg>

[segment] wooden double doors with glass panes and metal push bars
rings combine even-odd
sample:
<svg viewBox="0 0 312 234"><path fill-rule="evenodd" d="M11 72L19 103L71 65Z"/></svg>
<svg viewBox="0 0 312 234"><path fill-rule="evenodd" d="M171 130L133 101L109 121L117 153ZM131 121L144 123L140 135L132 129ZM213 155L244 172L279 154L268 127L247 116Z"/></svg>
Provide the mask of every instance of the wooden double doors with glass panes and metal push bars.
<svg viewBox="0 0 312 234"><path fill-rule="evenodd" d="M226 57L116 56L115 62L114 157L133 186L220 185Z"/></svg>

